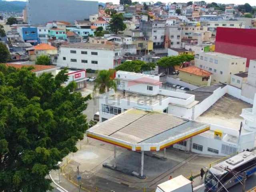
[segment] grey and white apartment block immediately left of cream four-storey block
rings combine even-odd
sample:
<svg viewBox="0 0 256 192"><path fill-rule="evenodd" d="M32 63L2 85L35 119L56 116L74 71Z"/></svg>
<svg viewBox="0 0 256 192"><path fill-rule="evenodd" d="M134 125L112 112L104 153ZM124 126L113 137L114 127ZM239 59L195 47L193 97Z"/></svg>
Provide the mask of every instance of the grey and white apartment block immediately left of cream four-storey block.
<svg viewBox="0 0 256 192"><path fill-rule="evenodd" d="M140 22L140 28L144 36L153 41L153 49L164 48L166 20Z"/></svg>

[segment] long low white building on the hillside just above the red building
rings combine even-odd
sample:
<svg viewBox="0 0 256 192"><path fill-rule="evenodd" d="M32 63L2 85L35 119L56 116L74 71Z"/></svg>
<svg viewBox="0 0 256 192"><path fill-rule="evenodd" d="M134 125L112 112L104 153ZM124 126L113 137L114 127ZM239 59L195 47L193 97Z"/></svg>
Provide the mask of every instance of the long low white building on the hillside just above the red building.
<svg viewBox="0 0 256 192"><path fill-rule="evenodd" d="M206 22L208 31L211 31L212 34L216 34L218 27L224 28L245 28L244 21L230 21L230 20L220 20L220 21L208 21Z"/></svg>

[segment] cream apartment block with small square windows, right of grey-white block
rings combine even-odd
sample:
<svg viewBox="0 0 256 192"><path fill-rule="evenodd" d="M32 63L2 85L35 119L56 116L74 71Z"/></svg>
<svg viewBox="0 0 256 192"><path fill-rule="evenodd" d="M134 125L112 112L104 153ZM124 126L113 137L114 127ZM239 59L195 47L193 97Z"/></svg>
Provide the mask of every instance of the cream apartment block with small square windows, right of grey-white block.
<svg viewBox="0 0 256 192"><path fill-rule="evenodd" d="M180 26L166 26L165 47L181 48L182 28Z"/></svg>

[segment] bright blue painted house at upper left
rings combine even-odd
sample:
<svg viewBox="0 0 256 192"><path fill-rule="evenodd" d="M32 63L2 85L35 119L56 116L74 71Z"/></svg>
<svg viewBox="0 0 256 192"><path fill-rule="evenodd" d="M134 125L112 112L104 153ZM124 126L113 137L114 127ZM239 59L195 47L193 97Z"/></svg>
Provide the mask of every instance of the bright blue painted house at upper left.
<svg viewBox="0 0 256 192"><path fill-rule="evenodd" d="M39 42L36 27L18 27L17 32L20 34L22 40L32 45L37 45Z"/></svg>

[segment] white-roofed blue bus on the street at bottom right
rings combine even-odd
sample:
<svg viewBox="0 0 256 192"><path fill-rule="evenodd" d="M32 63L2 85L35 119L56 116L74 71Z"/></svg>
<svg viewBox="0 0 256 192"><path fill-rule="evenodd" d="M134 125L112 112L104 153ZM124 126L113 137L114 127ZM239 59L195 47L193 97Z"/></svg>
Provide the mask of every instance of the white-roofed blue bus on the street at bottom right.
<svg viewBox="0 0 256 192"><path fill-rule="evenodd" d="M244 151L211 167L206 172L204 186L212 192L228 189L242 182L244 172L246 178L256 172L256 154Z"/></svg>

